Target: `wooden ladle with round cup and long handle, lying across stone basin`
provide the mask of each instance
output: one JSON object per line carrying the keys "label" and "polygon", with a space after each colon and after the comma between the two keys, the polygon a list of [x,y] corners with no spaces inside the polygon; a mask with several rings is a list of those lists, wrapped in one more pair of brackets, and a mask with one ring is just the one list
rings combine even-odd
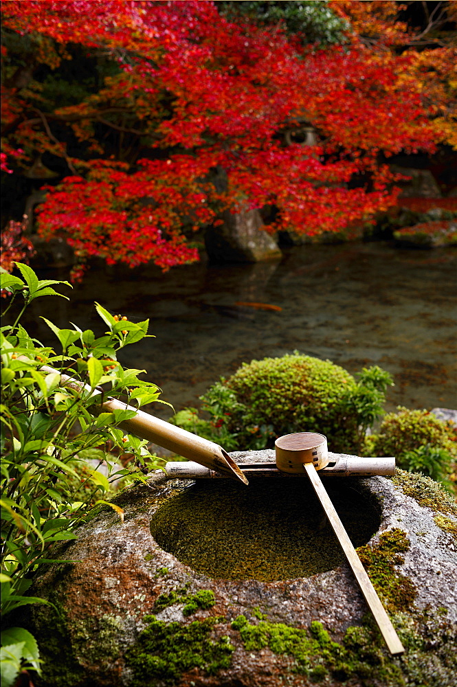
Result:
{"label": "wooden ladle with round cup and long handle, lying across stone basin", "polygon": [[[324,508],[333,532],[337,536],[339,545],[346,556],[361,593],[365,597],[390,653],[394,656],[404,653],[403,644],[401,644],[399,636],[386,613],[386,609],[384,609],[375,587],[373,587],[368,574],[366,574],[366,570],[361,564],[359,556],[357,556],[357,551],[353,547],[353,543],[350,541],[348,533],[344,529],[343,523],[339,519],[339,515],[317,473],[317,470],[320,469],[318,458],[322,457],[322,466],[326,465],[326,458],[328,458],[328,455],[326,456],[326,438],[322,434],[300,432],[280,437],[276,440],[275,444],[278,467],[281,464],[286,464],[289,472],[299,471],[300,461],[302,461],[301,471],[304,469],[309,477],[309,481],[317,498],[320,500],[322,508]],[[316,444],[315,447],[313,447],[313,444]],[[293,469],[291,469],[291,465],[293,465]]]}

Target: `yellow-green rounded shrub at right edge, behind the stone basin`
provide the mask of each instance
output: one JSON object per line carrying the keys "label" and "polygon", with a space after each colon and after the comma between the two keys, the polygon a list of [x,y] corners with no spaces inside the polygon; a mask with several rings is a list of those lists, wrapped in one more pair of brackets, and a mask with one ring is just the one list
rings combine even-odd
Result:
{"label": "yellow-green rounded shrub at right edge, behind the stone basin", "polygon": [[383,418],[379,433],[370,438],[377,455],[394,455],[397,466],[447,482],[457,457],[456,430],[427,410],[399,406]]}

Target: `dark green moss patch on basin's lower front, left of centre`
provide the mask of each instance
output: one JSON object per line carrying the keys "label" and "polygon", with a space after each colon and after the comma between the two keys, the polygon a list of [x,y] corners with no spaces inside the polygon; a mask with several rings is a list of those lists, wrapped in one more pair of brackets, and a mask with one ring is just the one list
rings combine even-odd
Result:
{"label": "dark green moss patch on basin's lower front, left of centre", "polygon": [[205,618],[183,625],[145,616],[148,627],[126,653],[126,665],[133,671],[131,686],[155,687],[157,679],[162,684],[173,684],[192,668],[200,668],[208,675],[228,668],[234,646],[227,636],[211,636],[221,620]]}

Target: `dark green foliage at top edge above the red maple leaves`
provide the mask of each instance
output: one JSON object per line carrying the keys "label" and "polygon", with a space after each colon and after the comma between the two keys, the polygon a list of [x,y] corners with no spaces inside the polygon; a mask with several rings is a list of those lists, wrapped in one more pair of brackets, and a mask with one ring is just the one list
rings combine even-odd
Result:
{"label": "dark green foliage at top edge above the red maple leaves", "polygon": [[216,3],[231,19],[247,17],[256,23],[283,23],[289,34],[299,34],[302,43],[319,47],[344,43],[348,23],[334,14],[326,0],[223,1]]}

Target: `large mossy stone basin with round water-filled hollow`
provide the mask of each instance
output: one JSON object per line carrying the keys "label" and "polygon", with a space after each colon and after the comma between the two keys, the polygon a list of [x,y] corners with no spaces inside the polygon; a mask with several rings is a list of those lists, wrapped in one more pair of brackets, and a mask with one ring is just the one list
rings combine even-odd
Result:
{"label": "large mossy stone basin with round water-filled hollow", "polygon": [[157,471],[115,497],[124,524],[100,506],[54,550],[71,562],[34,583],[54,604],[27,611],[45,659],[37,685],[455,687],[456,505],[402,471],[326,488],[402,657],[384,646],[306,477],[246,488]]}

